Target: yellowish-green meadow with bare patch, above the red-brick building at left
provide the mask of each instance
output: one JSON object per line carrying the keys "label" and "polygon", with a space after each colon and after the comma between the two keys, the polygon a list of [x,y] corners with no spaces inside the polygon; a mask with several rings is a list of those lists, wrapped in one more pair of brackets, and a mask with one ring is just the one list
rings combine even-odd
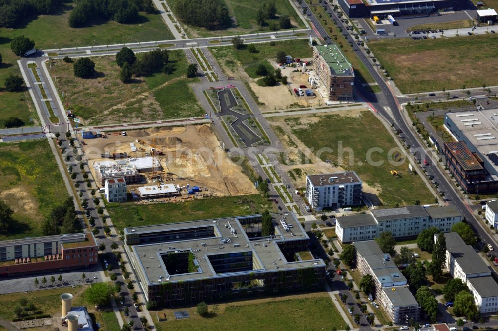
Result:
{"label": "yellowish-green meadow with bare patch, above the red-brick building at left", "polygon": [[0,197],[14,210],[14,232],[0,240],[41,236],[51,208],[68,196],[46,140],[0,144]]}

